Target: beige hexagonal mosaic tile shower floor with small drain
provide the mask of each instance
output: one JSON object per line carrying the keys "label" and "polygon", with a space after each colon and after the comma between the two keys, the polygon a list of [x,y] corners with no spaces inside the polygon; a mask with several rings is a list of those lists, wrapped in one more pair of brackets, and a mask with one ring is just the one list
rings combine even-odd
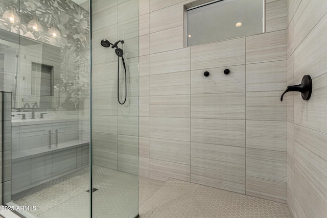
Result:
{"label": "beige hexagonal mosaic tile shower floor with small drain", "polygon": [[[128,210],[124,207],[131,205],[136,207],[135,201],[139,201],[139,214],[142,218],[291,217],[286,204],[176,179],[161,182],[139,177],[137,199],[136,176],[100,166],[96,166],[94,172],[94,186],[99,189],[94,192],[93,197],[96,218],[128,217],[129,214],[124,213]],[[88,173],[83,173],[50,187],[36,189],[35,193],[29,190],[30,195],[14,202],[18,205],[36,205],[38,210],[34,211],[33,215],[40,218],[87,218],[89,217],[89,194],[85,191],[87,189]]]}

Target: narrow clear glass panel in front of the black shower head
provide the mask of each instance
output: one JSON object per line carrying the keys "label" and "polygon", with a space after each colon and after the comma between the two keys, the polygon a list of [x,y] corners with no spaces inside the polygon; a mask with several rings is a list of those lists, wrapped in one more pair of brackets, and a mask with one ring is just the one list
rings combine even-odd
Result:
{"label": "narrow clear glass panel in front of the black shower head", "polygon": [[[106,5],[92,0],[92,17],[92,217],[134,218],[138,215],[138,0]],[[101,40],[107,40],[103,46]],[[118,49],[123,57],[118,57]]]}

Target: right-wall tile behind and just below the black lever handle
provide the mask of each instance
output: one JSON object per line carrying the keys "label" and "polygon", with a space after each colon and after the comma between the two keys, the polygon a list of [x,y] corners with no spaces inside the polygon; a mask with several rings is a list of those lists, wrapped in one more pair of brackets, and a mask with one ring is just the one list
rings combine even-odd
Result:
{"label": "right-wall tile behind and just below the black lever handle", "polygon": [[294,124],[327,133],[327,74],[312,80],[313,89],[309,101],[301,94],[294,94]]}

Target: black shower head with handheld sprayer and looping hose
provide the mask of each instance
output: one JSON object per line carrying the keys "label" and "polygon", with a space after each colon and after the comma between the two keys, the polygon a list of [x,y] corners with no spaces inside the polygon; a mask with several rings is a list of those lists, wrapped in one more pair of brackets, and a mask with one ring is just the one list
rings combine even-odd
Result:
{"label": "black shower head with handheld sprayer and looping hose", "polygon": [[[118,98],[118,102],[119,102],[119,104],[123,105],[123,104],[125,104],[125,102],[126,102],[126,98],[127,98],[127,74],[126,74],[126,65],[125,65],[125,60],[124,60],[124,57],[123,57],[123,55],[124,55],[124,51],[118,47],[118,43],[120,43],[120,42],[121,42],[122,44],[124,44],[124,40],[119,40],[119,41],[116,41],[115,43],[112,44],[112,43],[109,42],[107,39],[102,39],[102,40],[101,40],[101,45],[104,46],[104,47],[110,47],[110,45],[112,45],[112,46],[111,46],[112,49],[116,48],[116,49],[114,50],[114,52],[115,52],[116,55],[118,56],[118,87],[117,87],[117,98]],[[119,99],[119,57],[122,58],[123,66],[124,66],[124,69],[125,69],[125,100],[124,100],[123,103],[121,103],[121,101],[120,101],[120,99]]]}

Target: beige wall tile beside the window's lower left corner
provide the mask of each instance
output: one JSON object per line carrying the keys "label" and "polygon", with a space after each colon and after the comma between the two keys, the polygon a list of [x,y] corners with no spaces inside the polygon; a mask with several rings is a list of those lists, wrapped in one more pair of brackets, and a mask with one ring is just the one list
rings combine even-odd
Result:
{"label": "beige wall tile beside the window's lower left corner", "polygon": [[150,54],[183,48],[183,26],[150,34]]}

